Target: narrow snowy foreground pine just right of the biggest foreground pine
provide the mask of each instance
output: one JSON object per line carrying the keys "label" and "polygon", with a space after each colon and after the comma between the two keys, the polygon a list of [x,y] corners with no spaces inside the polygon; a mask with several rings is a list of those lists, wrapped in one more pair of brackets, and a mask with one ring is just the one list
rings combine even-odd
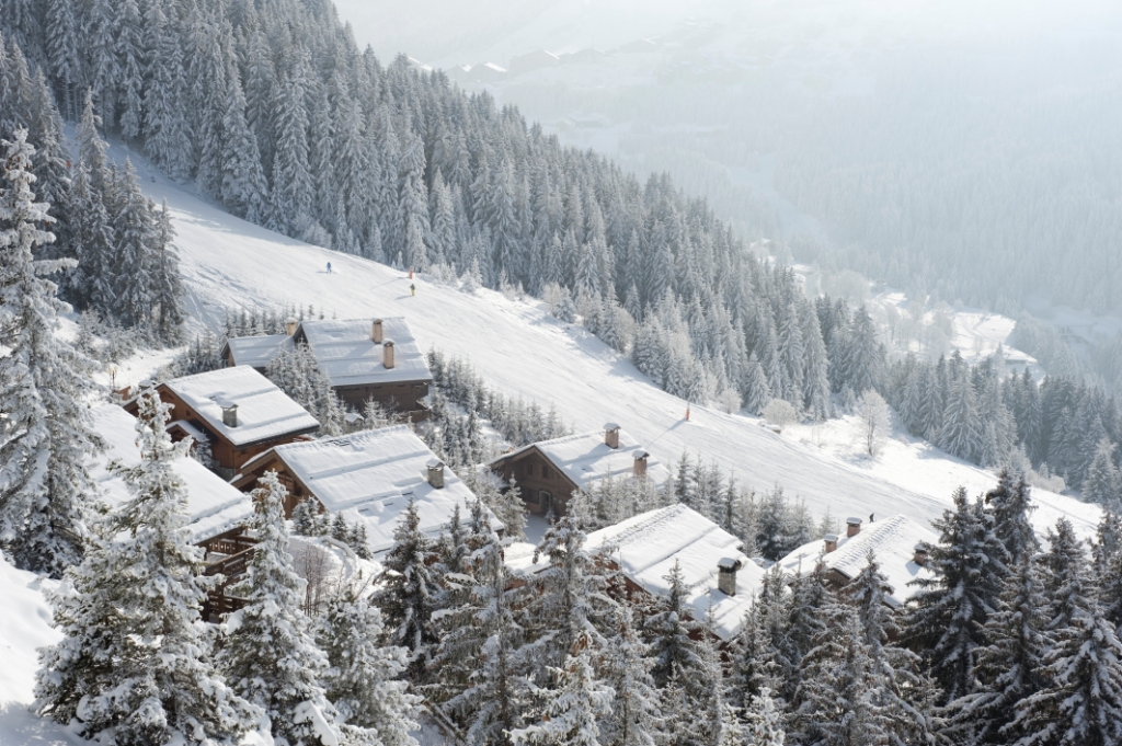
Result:
{"label": "narrow snowy foreground pine just right of the biggest foreground pine", "polygon": [[265,710],[274,738],[293,746],[338,744],[338,712],[321,683],[328,658],[301,611],[306,581],[288,553],[286,490],[275,471],[258,485],[250,526],[257,544],[246,578],[232,588],[246,606],[227,619],[219,666],[233,691]]}

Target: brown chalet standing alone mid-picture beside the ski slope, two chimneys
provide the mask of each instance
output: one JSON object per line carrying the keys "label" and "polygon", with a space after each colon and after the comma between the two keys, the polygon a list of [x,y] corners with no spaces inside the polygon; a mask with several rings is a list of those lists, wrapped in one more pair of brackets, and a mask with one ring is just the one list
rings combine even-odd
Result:
{"label": "brown chalet standing alone mid-picture beside the ski slope, two chimneys", "polygon": [[670,471],[638,441],[608,423],[601,431],[531,443],[489,464],[502,479],[513,479],[526,509],[535,515],[563,514],[576,490],[589,491],[608,478],[650,479],[662,486]]}

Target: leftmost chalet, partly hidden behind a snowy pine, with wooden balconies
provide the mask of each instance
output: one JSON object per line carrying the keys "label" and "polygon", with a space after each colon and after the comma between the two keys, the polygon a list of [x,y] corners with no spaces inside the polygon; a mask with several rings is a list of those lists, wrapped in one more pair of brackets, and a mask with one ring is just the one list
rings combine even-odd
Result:
{"label": "leftmost chalet, partly hidden behind a snowy pine, with wooden balconies", "polygon": [[[125,481],[109,470],[109,464],[117,461],[127,467],[139,466],[137,421],[111,404],[94,408],[92,414],[94,430],[108,448],[91,463],[90,472],[113,509],[131,499],[131,494]],[[245,573],[257,543],[245,528],[254,515],[254,504],[249,495],[234,489],[192,458],[175,462],[173,470],[187,495],[187,528],[192,541],[205,552],[204,573],[223,578],[221,586],[208,596],[203,610],[204,619],[218,621],[220,615],[241,607],[241,600],[229,596],[227,589]]]}

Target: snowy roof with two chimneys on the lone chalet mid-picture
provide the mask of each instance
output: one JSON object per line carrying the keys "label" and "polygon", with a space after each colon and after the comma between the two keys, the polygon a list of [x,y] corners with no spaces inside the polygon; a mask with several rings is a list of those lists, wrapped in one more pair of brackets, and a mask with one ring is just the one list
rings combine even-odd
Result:
{"label": "snowy roof with two chimneys on the lone chalet mid-picture", "polygon": [[[615,423],[608,424],[611,427],[606,425],[605,430],[618,427]],[[531,443],[511,453],[504,453],[491,463],[516,458],[535,448],[557,467],[558,471],[564,473],[577,487],[586,491],[601,479],[633,475],[635,459],[644,454],[647,455],[647,479],[655,485],[662,485],[670,479],[670,470],[666,469],[665,464],[650,455],[640,442],[628,435],[625,430],[619,430],[619,448],[609,448],[604,442],[604,430],[595,430],[589,433]]]}

